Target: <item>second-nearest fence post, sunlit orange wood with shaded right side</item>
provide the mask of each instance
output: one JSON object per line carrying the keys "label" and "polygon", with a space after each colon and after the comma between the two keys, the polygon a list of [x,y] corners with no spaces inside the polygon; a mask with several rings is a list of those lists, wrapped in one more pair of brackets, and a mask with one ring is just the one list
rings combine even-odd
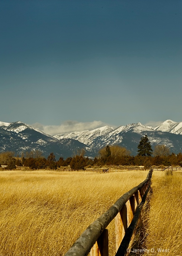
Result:
{"label": "second-nearest fence post, sunlit orange wood with shaded right side", "polygon": [[116,217],[114,218],[115,221],[115,234],[116,234],[116,252],[120,246],[120,243],[125,235],[127,230],[127,206],[126,204],[123,205],[122,209]]}

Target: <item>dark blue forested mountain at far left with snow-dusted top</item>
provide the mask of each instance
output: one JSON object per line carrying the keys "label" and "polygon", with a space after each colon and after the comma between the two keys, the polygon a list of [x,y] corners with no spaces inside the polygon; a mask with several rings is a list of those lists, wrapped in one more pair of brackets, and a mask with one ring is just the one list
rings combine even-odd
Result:
{"label": "dark blue forested mountain at far left with snow-dusted top", "polygon": [[95,155],[94,150],[78,140],[58,140],[20,121],[6,123],[7,125],[1,122],[1,124],[0,152],[13,151],[16,155],[21,155],[25,151],[40,150],[45,157],[54,152],[56,158],[59,159],[59,157],[73,156],[77,150],[84,148],[86,156]]}

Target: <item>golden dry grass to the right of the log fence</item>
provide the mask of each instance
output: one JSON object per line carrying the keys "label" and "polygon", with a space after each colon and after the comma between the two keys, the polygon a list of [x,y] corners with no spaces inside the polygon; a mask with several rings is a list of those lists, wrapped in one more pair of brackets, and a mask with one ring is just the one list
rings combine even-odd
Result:
{"label": "golden dry grass to the right of the log fence", "polygon": [[154,172],[152,175],[150,207],[145,206],[142,212],[147,234],[143,248],[149,251],[137,255],[182,255],[182,173],[165,174]]}

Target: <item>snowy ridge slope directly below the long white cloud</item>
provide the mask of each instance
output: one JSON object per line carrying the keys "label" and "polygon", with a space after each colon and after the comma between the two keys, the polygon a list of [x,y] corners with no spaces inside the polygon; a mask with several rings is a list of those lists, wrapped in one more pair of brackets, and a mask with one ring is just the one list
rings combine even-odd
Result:
{"label": "snowy ridge slope directly below the long white cloud", "polygon": [[74,139],[89,146],[95,138],[97,138],[98,136],[106,135],[113,130],[114,130],[113,127],[103,126],[91,131],[87,130],[83,132],[70,132],[70,133],[64,133],[64,134],[56,134],[53,137],[55,137],[58,140]]}

